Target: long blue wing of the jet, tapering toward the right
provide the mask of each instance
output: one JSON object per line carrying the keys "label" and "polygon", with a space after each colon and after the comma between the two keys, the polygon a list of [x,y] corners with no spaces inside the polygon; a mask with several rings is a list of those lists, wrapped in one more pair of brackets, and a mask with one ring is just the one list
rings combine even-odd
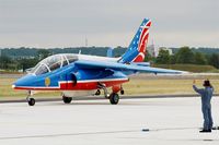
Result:
{"label": "long blue wing of the jet, tapering toward the right", "polygon": [[146,73],[175,73],[175,74],[186,73],[184,71],[177,71],[177,70],[142,67],[142,65],[136,65],[136,64],[124,64],[124,63],[118,63],[118,62],[78,60],[74,62],[74,64],[81,69],[112,69],[112,70],[118,70],[118,71],[136,71],[136,72],[146,72]]}

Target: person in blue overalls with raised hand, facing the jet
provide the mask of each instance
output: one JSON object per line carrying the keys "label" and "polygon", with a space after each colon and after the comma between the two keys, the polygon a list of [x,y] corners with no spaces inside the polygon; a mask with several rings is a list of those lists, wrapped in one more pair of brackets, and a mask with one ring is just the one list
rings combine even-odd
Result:
{"label": "person in blue overalls with raised hand, facing the jet", "polygon": [[212,129],[212,117],[211,117],[211,105],[210,100],[212,97],[214,88],[210,85],[210,81],[206,80],[204,81],[203,86],[205,88],[197,88],[196,87],[196,81],[193,81],[193,88],[195,92],[197,92],[201,96],[201,111],[204,117],[204,128],[200,133],[205,132],[211,132]]}

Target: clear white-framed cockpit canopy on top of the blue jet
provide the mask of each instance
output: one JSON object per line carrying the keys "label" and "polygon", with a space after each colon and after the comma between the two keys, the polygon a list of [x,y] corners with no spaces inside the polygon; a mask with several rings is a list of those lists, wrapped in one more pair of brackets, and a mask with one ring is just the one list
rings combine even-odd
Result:
{"label": "clear white-framed cockpit canopy on top of the blue jet", "polygon": [[36,75],[44,74],[68,65],[77,60],[77,55],[54,55],[38,62],[38,64],[36,64],[36,67],[31,71],[31,73]]}

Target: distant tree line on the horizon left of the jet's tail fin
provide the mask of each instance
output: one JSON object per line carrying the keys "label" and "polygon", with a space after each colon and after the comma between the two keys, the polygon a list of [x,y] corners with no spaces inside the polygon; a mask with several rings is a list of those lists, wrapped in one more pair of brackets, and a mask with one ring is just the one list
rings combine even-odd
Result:
{"label": "distant tree line on the horizon left of the jet's tail fin", "polygon": [[[79,47],[79,48],[50,48],[50,49],[36,49],[36,48],[4,48],[1,49],[0,56],[0,71],[25,71],[33,68],[44,58],[56,53],[81,53],[106,56],[108,47]],[[114,49],[114,56],[118,57],[126,51],[126,48],[117,47]]]}

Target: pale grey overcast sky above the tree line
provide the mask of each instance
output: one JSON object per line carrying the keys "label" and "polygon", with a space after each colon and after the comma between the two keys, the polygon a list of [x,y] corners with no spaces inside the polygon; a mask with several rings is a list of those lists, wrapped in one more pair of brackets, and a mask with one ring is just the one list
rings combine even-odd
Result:
{"label": "pale grey overcast sky above the tree line", "polygon": [[127,47],[143,17],[149,44],[219,47],[219,0],[0,0],[0,47]]}

